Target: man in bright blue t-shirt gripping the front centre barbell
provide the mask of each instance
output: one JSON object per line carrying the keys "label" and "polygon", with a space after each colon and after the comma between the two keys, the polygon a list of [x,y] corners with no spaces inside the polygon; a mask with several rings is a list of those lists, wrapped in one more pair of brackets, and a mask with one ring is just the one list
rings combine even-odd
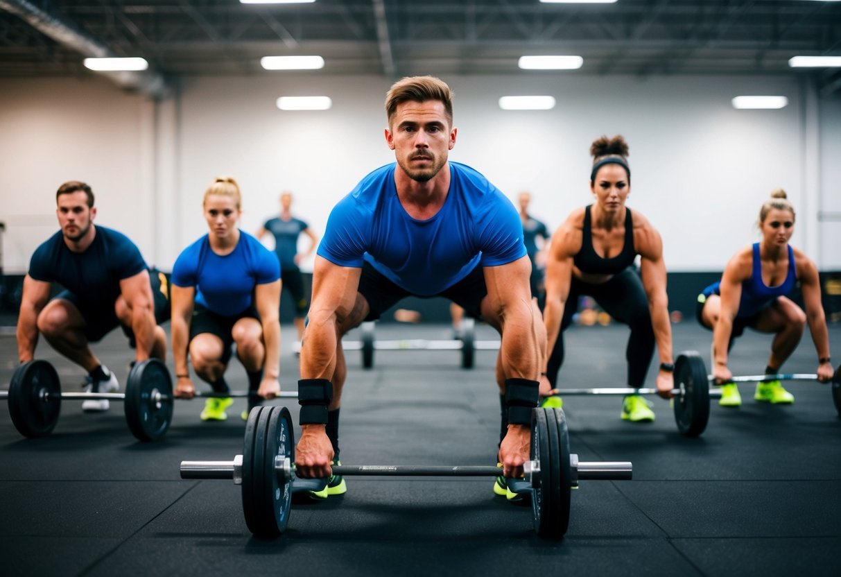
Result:
{"label": "man in bright blue t-shirt gripping the front centre barbell", "polygon": [[[397,162],[368,174],[341,199],[315,258],[313,298],[301,348],[297,473],[329,478],[315,496],[344,493],[331,476],[346,376],[341,336],[410,294],[441,295],[502,335],[497,381],[505,397],[495,493],[529,458],[545,332],[529,291],[531,264],[516,209],[479,172],[447,161],[456,144],[452,93],[434,77],[404,78],[386,99],[385,140]],[[446,403],[442,399],[442,403]],[[446,460],[446,459],[442,459]]]}

